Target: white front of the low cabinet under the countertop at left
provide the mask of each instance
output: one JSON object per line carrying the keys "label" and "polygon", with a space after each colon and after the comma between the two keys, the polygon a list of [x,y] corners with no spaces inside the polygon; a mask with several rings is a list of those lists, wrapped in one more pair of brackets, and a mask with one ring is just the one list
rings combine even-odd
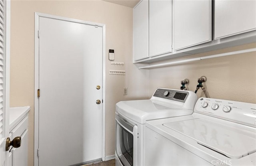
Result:
{"label": "white front of the low cabinet under the countertop at left", "polygon": [[19,148],[10,147],[8,166],[28,166],[28,115],[10,131],[10,139],[21,137]]}

